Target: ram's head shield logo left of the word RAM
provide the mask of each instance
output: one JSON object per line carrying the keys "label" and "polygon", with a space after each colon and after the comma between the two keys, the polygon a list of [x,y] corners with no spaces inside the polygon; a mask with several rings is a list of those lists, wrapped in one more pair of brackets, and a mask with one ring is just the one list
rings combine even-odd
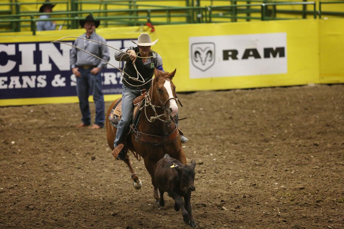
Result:
{"label": "ram's head shield logo left of the word RAM", "polygon": [[191,45],[192,65],[201,71],[206,71],[215,63],[214,43],[194,43]]}

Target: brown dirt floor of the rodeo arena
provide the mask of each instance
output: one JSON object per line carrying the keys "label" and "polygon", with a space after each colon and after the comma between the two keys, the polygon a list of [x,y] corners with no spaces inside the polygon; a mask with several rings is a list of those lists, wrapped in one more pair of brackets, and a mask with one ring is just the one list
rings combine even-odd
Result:
{"label": "brown dirt floor of the rodeo arena", "polygon": [[[179,98],[198,228],[344,228],[344,85]],[[106,129],[79,118],[78,104],[0,108],[1,229],[190,228],[172,198],[155,206],[142,161],[135,190]]]}

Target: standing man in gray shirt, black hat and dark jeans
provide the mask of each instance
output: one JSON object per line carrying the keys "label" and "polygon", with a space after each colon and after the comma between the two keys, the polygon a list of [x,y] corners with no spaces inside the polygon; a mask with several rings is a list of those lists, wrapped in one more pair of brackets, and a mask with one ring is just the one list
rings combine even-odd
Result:
{"label": "standing man in gray shirt, black hat and dark jeans", "polygon": [[[79,24],[86,30],[86,33],[80,37],[106,44],[106,40],[95,32],[100,21],[94,20],[92,15],[88,15],[85,20],[80,20]],[[105,45],[77,38],[74,42],[74,46],[84,49],[105,61],[109,61],[110,59],[109,48]],[[76,77],[76,91],[82,114],[82,123],[77,125],[77,127],[85,127],[91,124],[91,114],[88,104],[89,89],[91,89],[96,106],[96,117],[95,124],[89,128],[102,128],[105,121],[105,105],[104,95],[101,91],[101,69],[105,68],[106,62],[73,47],[71,49],[70,64],[73,74]]]}

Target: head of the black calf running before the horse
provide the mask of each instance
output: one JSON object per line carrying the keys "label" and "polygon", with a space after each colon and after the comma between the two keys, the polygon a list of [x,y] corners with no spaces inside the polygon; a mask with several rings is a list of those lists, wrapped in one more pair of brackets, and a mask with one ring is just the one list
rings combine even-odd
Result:
{"label": "head of the black calf running before the horse", "polygon": [[191,161],[191,165],[184,165],[184,166],[177,166],[175,169],[178,171],[178,175],[180,178],[180,186],[181,189],[185,192],[188,191],[195,191],[195,167],[196,162],[194,159]]}

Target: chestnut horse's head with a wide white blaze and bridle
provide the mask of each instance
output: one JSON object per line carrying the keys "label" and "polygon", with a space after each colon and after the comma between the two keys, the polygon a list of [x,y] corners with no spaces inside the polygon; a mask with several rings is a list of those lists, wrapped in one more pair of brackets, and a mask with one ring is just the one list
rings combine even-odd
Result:
{"label": "chestnut horse's head with a wide white blaze and bridle", "polygon": [[152,98],[157,98],[160,105],[172,117],[178,112],[177,99],[175,96],[175,85],[172,82],[176,69],[173,72],[163,72],[154,68],[155,79],[152,82]]}

